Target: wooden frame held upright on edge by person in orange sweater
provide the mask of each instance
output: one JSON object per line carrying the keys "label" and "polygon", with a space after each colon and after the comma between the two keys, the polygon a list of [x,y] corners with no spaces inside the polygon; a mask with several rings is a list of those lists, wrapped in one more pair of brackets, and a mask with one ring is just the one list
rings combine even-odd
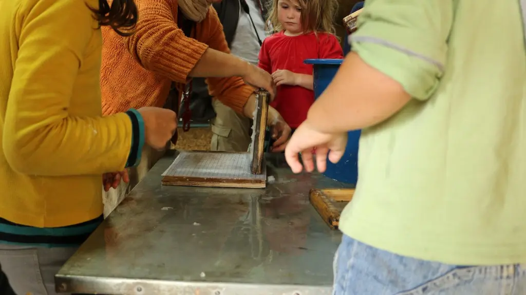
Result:
{"label": "wooden frame held upright on edge by person in orange sweater", "polygon": [[267,115],[268,115],[268,101],[270,93],[266,90],[259,89],[256,93],[256,115],[254,116],[254,128],[252,136],[254,141],[251,143],[252,148],[252,162],[250,170],[254,174],[261,174],[264,167],[263,156],[265,154],[265,131],[267,130]]}

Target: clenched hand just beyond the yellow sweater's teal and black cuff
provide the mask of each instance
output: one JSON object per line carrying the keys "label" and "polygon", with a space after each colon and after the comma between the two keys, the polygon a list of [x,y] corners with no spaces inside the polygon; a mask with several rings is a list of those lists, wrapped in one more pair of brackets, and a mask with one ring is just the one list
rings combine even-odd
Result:
{"label": "clenched hand just beyond the yellow sweater's teal and black cuff", "polygon": [[168,109],[145,107],[137,110],[144,121],[145,143],[163,150],[177,131],[177,114]]}

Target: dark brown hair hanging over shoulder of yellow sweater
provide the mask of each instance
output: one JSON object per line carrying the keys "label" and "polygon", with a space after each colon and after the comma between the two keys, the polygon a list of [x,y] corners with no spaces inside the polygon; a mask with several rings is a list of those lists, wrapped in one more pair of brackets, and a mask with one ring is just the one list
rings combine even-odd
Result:
{"label": "dark brown hair hanging over shoulder of yellow sweater", "polygon": [[134,33],[138,15],[134,0],[113,0],[111,5],[108,0],[99,0],[99,8],[90,9],[99,27],[110,26],[120,36]]}

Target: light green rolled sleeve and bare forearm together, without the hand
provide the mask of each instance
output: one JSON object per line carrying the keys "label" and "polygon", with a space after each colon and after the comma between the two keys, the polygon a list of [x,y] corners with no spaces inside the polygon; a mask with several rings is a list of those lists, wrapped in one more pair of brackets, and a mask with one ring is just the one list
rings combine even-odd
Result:
{"label": "light green rolled sleeve and bare forearm together, without the hand", "polygon": [[386,120],[411,97],[427,100],[443,74],[452,12],[451,1],[369,0],[353,52],[307,120],[320,132],[345,132]]}

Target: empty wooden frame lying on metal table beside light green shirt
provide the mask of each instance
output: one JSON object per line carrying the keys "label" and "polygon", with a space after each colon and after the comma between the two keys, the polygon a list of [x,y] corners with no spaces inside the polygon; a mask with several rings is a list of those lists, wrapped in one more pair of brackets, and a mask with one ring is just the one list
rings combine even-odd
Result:
{"label": "empty wooden frame lying on metal table beside light green shirt", "polygon": [[354,188],[315,188],[310,190],[309,200],[323,221],[331,229],[338,229],[341,210],[351,201],[354,194]]}

